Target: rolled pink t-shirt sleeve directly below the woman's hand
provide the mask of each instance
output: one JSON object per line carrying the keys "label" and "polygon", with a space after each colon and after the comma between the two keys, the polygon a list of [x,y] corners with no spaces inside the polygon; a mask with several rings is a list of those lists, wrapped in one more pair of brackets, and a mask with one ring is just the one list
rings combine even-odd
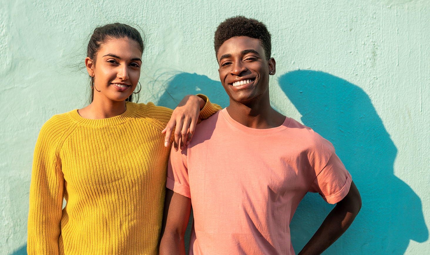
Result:
{"label": "rolled pink t-shirt sleeve directly below the woman's hand", "polygon": [[172,146],[167,166],[166,187],[178,194],[191,198],[187,167],[187,149],[175,152]]}

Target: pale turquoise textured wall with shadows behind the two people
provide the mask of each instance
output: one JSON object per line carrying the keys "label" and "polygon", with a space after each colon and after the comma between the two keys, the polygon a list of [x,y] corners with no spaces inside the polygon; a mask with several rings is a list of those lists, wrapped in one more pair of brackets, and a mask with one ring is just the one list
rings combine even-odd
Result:
{"label": "pale turquoise textured wall with shadows behind the two people", "polygon": [[[203,92],[227,106],[213,51],[233,15],[272,34],[273,106],[329,139],[363,207],[324,254],[428,254],[430,3],[418,0],[0,0],[0,254],[26,254],[37,134],[52,115],[86,105],[88,35],[102,24],[147,37],[140,102],[174,107]],[[291,229],[296,252],[330,211],[308,194]]]}

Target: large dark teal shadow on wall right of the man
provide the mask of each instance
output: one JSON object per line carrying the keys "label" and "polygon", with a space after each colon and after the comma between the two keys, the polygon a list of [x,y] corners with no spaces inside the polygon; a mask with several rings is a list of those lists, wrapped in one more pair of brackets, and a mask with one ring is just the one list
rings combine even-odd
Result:
{"label": "large dark teal shadow on wall right of the man", "polygon": [[[421,200],[394,175],[397,149],[369,96],[356,85],[317,71],[292,71],[278,82],[303,124],[333,143],[362,197],[353,225],[324,254],[404,254],[409,240],[427,240]],[[317,194],[304,197],[291,222],[296,252],[332,207]]]}

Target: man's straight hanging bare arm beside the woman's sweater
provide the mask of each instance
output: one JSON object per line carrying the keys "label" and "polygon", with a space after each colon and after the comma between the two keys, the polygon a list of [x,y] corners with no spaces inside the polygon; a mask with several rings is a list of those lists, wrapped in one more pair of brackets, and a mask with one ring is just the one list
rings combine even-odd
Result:
{"label": "man's straight hanging bare arm beside the woman's sweater", "polygon": [[191,213],[191,199],[166,189],[160,255],[185,255],[184,235]]}

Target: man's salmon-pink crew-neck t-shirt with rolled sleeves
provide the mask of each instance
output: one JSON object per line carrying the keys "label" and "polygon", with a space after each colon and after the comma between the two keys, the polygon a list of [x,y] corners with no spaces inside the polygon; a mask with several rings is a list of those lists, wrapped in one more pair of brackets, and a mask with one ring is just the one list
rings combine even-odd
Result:
{"label": "man's salmon-pink crew-neck t-shirt with rolled sleeves", "polygon": [[294,255],[289,224],[300,200],[310,191],[337,203],[350,184],[311,128],[286,118],[254,129],[223,109],[197,125],[186,150],[172,150],[166,186],[191,198],[191,255]]}

